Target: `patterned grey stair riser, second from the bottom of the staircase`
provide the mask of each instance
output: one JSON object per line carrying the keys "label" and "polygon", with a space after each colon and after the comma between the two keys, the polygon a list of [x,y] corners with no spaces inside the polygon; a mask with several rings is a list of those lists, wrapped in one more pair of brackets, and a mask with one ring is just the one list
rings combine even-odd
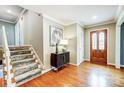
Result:
{"label": "patterned grey stair riser, second from the bottom of the staircase", "polygon": [[34,70],[34,69],[37,69],[37,68],[38,68],[38,65],[36,64],[33,67],[28,67],[28,68],[23,68],[23,69],[20,69],[20,70],[16,70],[16,71],[14,71],[14,76],[24,74],[28,71],[31,71],[31,70]]}

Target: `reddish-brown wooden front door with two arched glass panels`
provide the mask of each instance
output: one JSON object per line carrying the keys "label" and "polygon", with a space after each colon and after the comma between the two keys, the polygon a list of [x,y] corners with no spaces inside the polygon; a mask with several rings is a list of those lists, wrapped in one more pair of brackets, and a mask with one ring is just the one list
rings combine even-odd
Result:
{"label": "reddish-brown wooden front door with two arched glass panels", "polygon": [[90,32],[90,61],[107,64],[107,29]]}

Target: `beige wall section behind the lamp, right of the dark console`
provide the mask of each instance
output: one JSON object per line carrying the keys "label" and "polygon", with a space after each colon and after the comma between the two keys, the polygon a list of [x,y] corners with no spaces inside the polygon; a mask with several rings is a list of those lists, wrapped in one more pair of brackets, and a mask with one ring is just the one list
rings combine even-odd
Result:
{"label": "beige wall section behind the lamp, right of the dark console", "polygon": [[76,24],[66,26],[64,28],[64,38],[69,41],[68,51],[70,51],[70,63],[77,64],[77,32]]}

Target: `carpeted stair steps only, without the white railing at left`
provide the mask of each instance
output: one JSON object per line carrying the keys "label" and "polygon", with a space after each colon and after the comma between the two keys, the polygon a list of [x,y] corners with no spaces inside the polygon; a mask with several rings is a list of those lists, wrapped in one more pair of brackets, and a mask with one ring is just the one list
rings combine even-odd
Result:
{"label": "carpeted stair steps only, without the white railing at left", "polygon": [[42,64],[32,46],[9,47],[16,86],[41,75]]}

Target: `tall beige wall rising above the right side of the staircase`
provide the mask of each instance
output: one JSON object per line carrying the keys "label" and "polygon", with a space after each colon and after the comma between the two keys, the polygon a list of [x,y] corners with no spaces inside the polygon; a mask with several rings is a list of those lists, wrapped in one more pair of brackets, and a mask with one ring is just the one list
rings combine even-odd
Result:
{"label": "tall beige wall rising above the right side of the staircase", "polygon": [[32,45],[43,61],[43,17],[32,11],[23,15],[24,45]]}

